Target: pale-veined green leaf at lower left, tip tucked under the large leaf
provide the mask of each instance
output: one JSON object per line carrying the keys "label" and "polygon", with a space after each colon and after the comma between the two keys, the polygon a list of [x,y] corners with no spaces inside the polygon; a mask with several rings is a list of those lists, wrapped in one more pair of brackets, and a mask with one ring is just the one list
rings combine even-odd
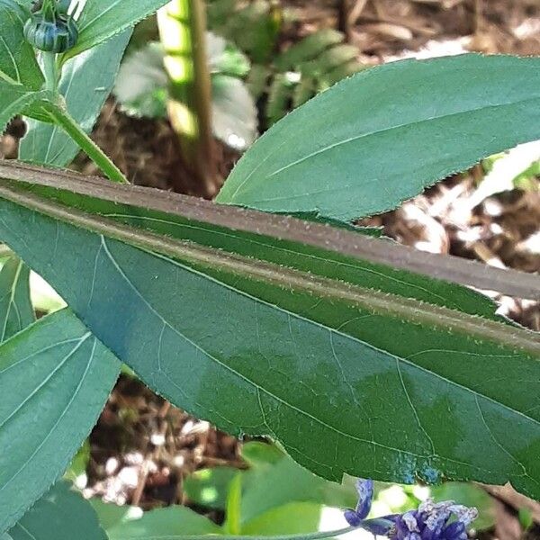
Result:
{"label": "pale-veined green leaf at lower left, tip tucked under the large leaf", "polygon": [[70,311],[0,346],[0,531],[58,479],[94,426],[120,364]]}

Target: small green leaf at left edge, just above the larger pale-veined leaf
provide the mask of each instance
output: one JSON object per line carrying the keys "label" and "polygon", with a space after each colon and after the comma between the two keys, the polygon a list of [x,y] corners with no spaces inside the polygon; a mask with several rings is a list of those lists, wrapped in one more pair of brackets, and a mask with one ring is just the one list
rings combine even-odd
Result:
{"label": "small green leaf at left edge, just above the larger pale-veined leaf", "polygon": [[0,343],[35,320],[30,300],[30,270],[12,257],[0,270]]}

